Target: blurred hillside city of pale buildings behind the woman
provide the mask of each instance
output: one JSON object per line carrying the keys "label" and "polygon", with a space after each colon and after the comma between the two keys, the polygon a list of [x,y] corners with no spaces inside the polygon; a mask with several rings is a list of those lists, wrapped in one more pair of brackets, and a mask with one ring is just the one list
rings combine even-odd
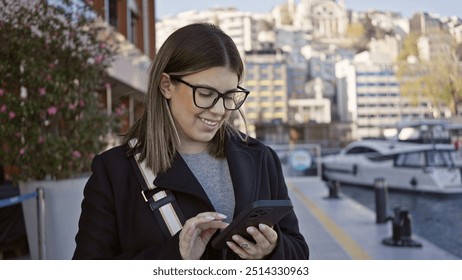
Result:
{"label": "blurred hillside city of pale buildings behind the woman", "polygon": [[336,147],[393,133],[398,122],[460,115],[459,17],[289,0],[266,14],[230,7],[158,19],[156,47],[194,22],[220,26],[237,44],[249,132],[264,141]]}

